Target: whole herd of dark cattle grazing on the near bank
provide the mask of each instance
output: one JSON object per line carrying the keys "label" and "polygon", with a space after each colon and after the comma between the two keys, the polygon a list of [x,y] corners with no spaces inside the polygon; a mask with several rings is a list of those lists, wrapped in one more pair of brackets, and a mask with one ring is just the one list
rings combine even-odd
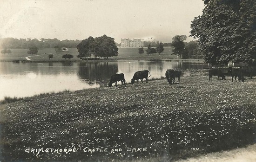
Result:
{"label": "whole herd of dark cattle grazing on the near bank", "polygon": [[[146,83],[148,83],[148,73],[149,73],[149,77],[150,72],[148,70],[143,70],[143,71],[136,71],[132,80],[131,80],[131,84],[135,83],[135,80],[137,80],[137,83],[139,83],[139,80],[142,80],[145,78],[146,79]],[[165,77],[167,78],[167,82],[169,84],[174,84],[175,83],[175,78],[178,78],[178,82],[180,82],[180,77],[182,75],[182,71],[175,71],[172,69],[167,69],[167,71],[165,72]],[[222,80],[226,80],[226,76],[231,76],[232,77],[232,82],[233,82],[233,78],[238,78],[238,81],[242,81],[244,82],[244,76],[249,77],[250,79],[252,79],[253,76],[256,76],[256,67],[253,66],[245,66],[245,67],[241,67],[241,68],[212,68],[209,69],[209,80],[212,80],[212,76],[218,76],[218,79],[220,79],[220,77],[222,78]],[[108,83],[108,87],[112,87],[112,84],[115,83],[115,86],[117,86],[117,82],[121,81],[121,86],[124,84],[125,85],[125,78],[124,78],[124,74],[115,74],[112,75],[110,78],[110,81]]]}

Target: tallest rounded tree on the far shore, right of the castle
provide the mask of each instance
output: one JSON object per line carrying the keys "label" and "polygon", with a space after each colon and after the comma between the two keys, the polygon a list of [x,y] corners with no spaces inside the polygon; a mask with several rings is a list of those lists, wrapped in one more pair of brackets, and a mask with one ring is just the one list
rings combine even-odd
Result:
{"label": "tallest rounded tree on the far shore, right of the castle", "polygon": [[174,54],[177,54],[177,56],[179,56],[180,58],[182,56],[182,53],[184,52],[184,48],[185,48],[184,41],[186,39],[187,39],[186,35],[175,35],[172,38],[171,46],[174,47],[172,52],[174,52]]}

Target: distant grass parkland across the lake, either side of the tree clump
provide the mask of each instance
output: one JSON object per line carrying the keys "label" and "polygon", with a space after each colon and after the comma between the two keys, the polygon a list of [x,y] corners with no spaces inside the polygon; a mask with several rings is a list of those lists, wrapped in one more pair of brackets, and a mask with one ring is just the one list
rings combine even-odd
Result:
{"label": "distant grass parkland across the lake, either side of the tree clump", "polygon": [[[158,55],[158,53],[147,55],[145,51],[146,49],[147,48],[144,48],[144,53],[140,55],[138,53],[138,48],[119,48],[118,56],[111,57],[109,59],[177,59],[176,55],[171,55],[171,47],[165,47],[165,51],[160,55]],[[49,61],[48,53],[53,53],[54,58],[51,58],[53,61],[65,60],[62,58],[64,54],[72,54],[74,58],[71,58],[71,60],[73,61],[81,61],[81,59],[77,58],[77,49],[69,49],[67,52],[55,52],[53,48],[46,48],[40,49],[38,53],[33,56],[31,54],[27,54],[28,49],[11,49],[11,51],[11,54],[0,54],[0,61],[26,60],[26,57],[28,56],[31,56],[29,58],[34,61]]]}

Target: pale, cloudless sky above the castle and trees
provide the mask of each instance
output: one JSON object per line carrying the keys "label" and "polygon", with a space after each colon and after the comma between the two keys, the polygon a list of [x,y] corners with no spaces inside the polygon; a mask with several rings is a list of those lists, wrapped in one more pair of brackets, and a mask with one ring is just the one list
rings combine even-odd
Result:
{"label": "pale, cloudless sky above the castle and trees", "polygon": [[191,41],[191,21],[203,8],[202,0],[0,0],[0,38]]}

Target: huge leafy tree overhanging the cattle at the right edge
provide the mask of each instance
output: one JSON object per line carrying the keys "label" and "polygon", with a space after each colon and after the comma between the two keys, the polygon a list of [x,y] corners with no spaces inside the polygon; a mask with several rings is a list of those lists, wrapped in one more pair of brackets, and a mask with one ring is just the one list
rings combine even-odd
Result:
{"label": "huge leafy tree overhanging the cattle at the right edge", "polygon": [[191,24],[200,52],[212,65],[256,59],[256,0],[203,0]]}

